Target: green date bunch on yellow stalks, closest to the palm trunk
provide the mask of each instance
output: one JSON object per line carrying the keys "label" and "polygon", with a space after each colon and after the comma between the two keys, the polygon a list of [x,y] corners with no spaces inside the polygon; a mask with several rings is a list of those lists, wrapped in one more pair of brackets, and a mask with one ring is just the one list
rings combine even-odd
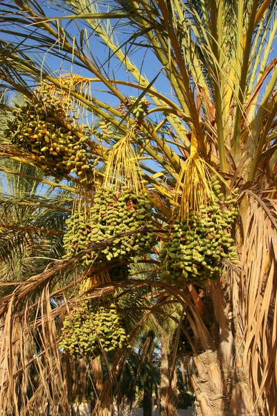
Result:
{"label": "green date bunch on yellow stalks, closest to the palm trunk", "polygon": [[224,181],[211,176],[211,167],[197,153],[186,161],[181,175],[181,202],[160,252],[161,279],[178,287],[219,277],[224,259],[238,262],[231,237],[238,190],[222,202]]}

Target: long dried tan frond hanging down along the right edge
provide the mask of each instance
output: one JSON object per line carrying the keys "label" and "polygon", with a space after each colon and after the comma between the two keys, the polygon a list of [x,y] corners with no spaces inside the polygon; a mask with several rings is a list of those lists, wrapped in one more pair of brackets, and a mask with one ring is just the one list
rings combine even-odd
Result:
{"label": "long dried tan frond hanging down along the right edge", "polygon": [[243,366],[254,405],[259,414],[271,416],[276,414],[277,392],[277,207],[248,194],[240,281],[233,286],[234,312],[241,317],[238,338],[244,345]]}

